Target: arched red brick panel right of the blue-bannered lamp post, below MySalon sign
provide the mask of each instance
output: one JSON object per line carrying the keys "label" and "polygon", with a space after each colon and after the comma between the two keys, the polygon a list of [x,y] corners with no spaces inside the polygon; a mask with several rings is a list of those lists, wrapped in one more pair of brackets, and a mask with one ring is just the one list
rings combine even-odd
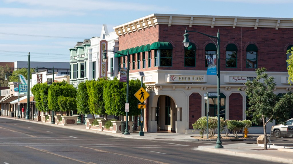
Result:
{"label": "arched red brick panel right of the blue-bannered lamp post, below MySalon sign", "polygon": [[239,93],[232,93],[229,96],[229,120],[242,120],[243,97]]}

